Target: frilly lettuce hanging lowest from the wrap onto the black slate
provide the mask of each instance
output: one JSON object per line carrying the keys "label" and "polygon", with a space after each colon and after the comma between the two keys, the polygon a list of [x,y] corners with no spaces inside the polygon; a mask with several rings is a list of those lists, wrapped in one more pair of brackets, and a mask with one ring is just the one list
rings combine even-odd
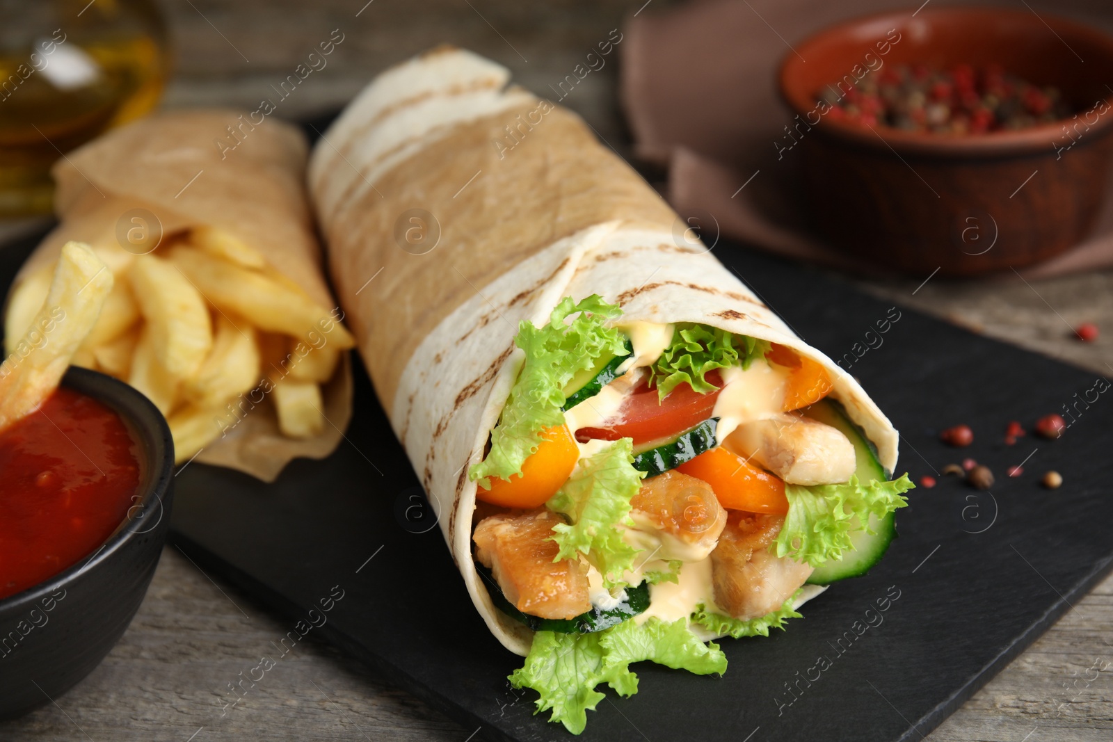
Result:
{"label": "frilly lettuce hanging lowest from the wrap onto the black slate", "polygon": [[727,670],[719,647],[699,641],[687,620],[649,619],[640,625],[624,621],[592,634],[539,631],[525,664],[510,675],[510,682],[540,694],[535,713],[551,710],[550,721],[580,734],[588,723],[587,712],[605,698],[595,686],[607,683],[620,695],[633,695],[638,676],[629,665],[643,660],[699,675],[721,675]]}

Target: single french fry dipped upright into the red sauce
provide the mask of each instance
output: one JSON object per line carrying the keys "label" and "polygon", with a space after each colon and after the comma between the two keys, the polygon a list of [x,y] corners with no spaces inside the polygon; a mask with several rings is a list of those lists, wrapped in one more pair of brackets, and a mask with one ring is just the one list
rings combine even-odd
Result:
{"label": "single french fry dipped upright into the red sauce", "polygon": [[112,271],[82,243],[66,243],[46,301],[0,365],[0,429],[37,409],[92,329]]}

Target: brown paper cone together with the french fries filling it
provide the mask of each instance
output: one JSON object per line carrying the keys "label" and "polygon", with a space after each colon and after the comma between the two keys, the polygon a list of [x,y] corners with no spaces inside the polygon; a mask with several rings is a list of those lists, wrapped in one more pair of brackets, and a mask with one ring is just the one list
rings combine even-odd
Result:
{"label": "brown paper cone together with the french fries filling it", "polygon": [[62,245],[88,243],[112,291],[73,363],[128,382],[167,416],[178,463],[273,481],[322,458],[352,415],[352,375],[322,267],[294,127],[247,113],[164,113],[55,167],[60,224],[20,269],[18,340]]}

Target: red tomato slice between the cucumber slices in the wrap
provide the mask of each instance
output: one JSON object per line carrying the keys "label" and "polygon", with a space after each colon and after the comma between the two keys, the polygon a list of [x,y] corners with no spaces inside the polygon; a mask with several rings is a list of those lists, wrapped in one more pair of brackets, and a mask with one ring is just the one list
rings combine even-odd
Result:
{"label": "red tomato slice between the cucumber slices in the wrap", "polygon": [[688,384],[681,384],[664,399],[658,398],[657,388],[650,388],[647,379],[634,387],[619,407],[618,414],[604,425],[581,427],[575,432],[575,437],[580,443],[633,438],[637,447],[641,443],[679,435],[706,421],[715,409],[715,402],[722,388],[722,375],[712,370],[705,378],[719,388],[700,394]]}

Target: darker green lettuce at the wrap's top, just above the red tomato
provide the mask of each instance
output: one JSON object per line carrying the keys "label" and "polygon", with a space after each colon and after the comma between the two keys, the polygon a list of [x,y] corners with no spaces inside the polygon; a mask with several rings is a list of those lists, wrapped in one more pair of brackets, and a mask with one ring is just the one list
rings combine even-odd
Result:
{"label": "darker green lettuce at the wrap's top, just above the red tomato", "polygon": [[672,343],[653,364],[650,384],[657,385],[661,399],[680,384],[689,384],[700,394],[716,389],[705,376],[716,368],[749,368],[755,358],[769,352],[768,340],[733,335],[706,325],[677,325]]}

